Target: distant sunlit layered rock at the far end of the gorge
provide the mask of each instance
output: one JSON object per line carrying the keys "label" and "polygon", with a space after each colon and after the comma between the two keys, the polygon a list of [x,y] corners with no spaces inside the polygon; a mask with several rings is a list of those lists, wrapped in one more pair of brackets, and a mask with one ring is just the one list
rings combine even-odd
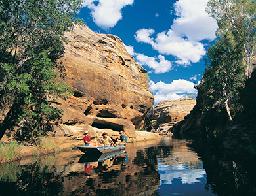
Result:
{"label": "distant sunlit layered rock at the far end of the gorge", "polygon": [[193,99],[161,101],[154,107],[148,131],[167,132],[177,122],[184,120],[194,105],[196,100]]}

